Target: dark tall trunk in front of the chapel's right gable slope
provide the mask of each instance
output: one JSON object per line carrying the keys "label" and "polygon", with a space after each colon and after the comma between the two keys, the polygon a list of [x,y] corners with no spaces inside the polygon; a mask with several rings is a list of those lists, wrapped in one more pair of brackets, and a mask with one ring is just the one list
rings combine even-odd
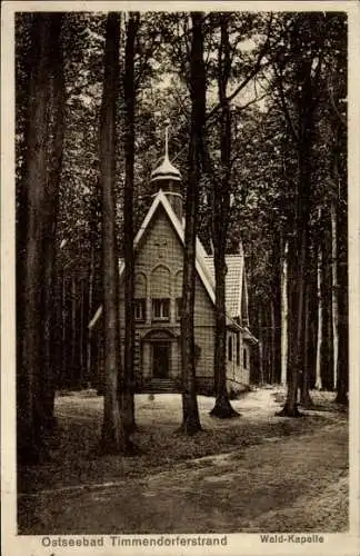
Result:
{"label": "dark tall trunk in front of the chapel's right gable slope", "polygon": [[200,155],[206,112],[206,76],[203,67],[202,13],[192,12],[192,39],[190,58],[191,128],[189,146],[189,177],[186,200],[186,230],[183,256],[181,360],[182,360],[182,425],[186,434],[201,430],[194,358],[194,291],[196,291],[196,239],[201,177]]}

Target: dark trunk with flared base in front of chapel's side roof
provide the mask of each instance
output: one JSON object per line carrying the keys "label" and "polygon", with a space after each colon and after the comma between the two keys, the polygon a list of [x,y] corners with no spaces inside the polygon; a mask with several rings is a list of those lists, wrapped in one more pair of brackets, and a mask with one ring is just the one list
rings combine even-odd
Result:
{"label": "dark trunk with flared base in front of chapel's side roof", "polygon": [[226,251],[228,221],[230,211],[230,173],[231,173],[231,113],[227,101],[227,83],[229,80],[230,42],[228,14],[221,14],[218,91],[220,112],[220,152],[221,180],[213,181],[212,202],[212,241],[216,277],[216,337],[214,337],[214,388],[216,404],[210,415],[229,418],[239,415],[231,406],[227,389],[227,307],[226,307]]}

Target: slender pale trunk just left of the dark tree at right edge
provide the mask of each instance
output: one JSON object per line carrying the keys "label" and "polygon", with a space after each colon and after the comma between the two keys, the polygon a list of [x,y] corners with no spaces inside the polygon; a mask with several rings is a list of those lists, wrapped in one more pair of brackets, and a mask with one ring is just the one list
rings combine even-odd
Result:
{"label": "slender pale trunk just left of the dark tree at right edge", "polygon": [[337,209],[331,202],[331,317],[332,317],[332,348],[333,348],[333,388],[338,384],[338,356],[339,356],[339,308],[338,308],[338,238],[337,238]]}

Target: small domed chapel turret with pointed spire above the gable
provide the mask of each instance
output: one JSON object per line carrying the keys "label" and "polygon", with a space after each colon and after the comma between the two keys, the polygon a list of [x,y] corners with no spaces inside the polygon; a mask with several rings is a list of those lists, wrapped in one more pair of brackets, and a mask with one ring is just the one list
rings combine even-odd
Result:
{"label": "small domed chapel turret with pointed spire above the gable", "polygon": [[166,128],[166,152],[161,165],[151,172],[151,183],[154,191],[162,189],[169,202],[181,221],[182,219],[182,195],[181,173],[169,159],[169,126]]}

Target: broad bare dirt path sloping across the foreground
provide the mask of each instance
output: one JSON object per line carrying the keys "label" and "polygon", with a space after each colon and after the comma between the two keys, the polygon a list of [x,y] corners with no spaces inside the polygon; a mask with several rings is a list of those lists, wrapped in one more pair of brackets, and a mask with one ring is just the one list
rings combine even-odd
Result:
{"label": "broad bare dirt path sloping across the foreground", "polygon": [[347,425],[331,423],[311,434],[181,463],[171,471],[24,496],[22,528],[32,534],[347,530]]}

